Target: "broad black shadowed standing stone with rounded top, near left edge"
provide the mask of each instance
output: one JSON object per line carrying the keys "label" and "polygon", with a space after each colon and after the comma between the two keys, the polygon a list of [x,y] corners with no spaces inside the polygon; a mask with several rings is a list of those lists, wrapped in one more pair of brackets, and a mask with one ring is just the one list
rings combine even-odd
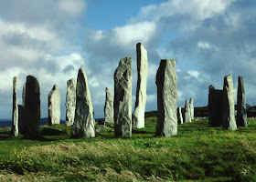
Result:
{"label": "broad black shadowed standing stone with rounded top, near left edge", "polygon": [[22,116],[22,131],[27,139],[38,139],[40,135],[40,86],[37,78],[27,76],[25,107]]}

